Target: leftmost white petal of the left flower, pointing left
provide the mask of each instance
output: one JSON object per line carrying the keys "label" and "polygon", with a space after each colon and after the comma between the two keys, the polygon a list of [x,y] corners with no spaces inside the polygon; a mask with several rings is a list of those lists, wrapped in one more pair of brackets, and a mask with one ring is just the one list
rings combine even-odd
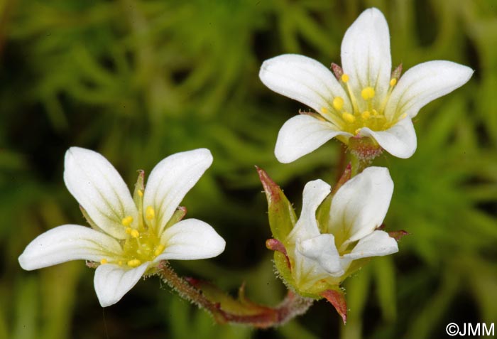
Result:
{"label": "leftmost white petal of the left flower, pointing left", "polygon": [[114,238],[80,225],[62,225],[38,235],[24,249],[19,264],[26,270],[84,259],[99,262],[121,252]]}

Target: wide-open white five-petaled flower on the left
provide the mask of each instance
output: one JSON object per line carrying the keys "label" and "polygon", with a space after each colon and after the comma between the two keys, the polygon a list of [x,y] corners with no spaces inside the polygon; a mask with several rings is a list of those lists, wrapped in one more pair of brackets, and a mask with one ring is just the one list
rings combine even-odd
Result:
{"label": "wide-open white five-petaled flower on the left", "polygon": [[153,168],[146,190],[141,173],[132,198],[106,158],[70,148],[64,181],[93,229],[55,227],[28,244],[19,264],[32,270],[77,259],[96,262],[95,291],[106,307],[119,301],[160,260],[216,257],[225,242],[211,226],[196,219],[174,223],[185,212],[175,215],[181,200],[211,163],[207,149],[168,156]]}

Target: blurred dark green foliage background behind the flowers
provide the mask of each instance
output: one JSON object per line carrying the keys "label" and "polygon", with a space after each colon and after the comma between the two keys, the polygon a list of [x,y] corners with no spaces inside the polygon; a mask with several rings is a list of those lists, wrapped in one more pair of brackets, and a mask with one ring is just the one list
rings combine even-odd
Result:
{"label": "blurred dark green foliage background behind the flowers", "polygon": [[[226,291],[246,281],[275,305],[264,168],[300,212],[307,181],[337,176],[338,141],[295,163],[273,156],[278,129],[305,109],[258,80],[263,60],[301,53],[339,63],[346,28],[376,6],[393,65],[469,65],[468,84],[423,108],[412,158],[382,156],[395,191],[386,225],[400,252],[346,281],[349,323],[331,305],[280,328],[215,325],[157,277],[102,309],[84,262],[23,271],[35,236],[84,225],[62,181],[70,146],[101,152],[132,187],[177,151],[214,164],[182,205],[226,239],[220,257],[173,262]],[[493,0],[1,0],[0,338],[446,338],[447,323],[497,323],[497,4]]]}

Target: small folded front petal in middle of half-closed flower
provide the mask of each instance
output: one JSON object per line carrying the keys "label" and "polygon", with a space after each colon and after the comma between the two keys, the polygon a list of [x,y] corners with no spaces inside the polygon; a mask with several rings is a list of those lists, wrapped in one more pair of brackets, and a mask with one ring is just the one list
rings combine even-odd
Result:
{"label": "small folded front petal in middle of half-closed flower", "polygon": [[297,243],[297,250],[303,256],[319,264],[329,275],[341,276],[344,274],[333,235],[318,235],[299,242]]}

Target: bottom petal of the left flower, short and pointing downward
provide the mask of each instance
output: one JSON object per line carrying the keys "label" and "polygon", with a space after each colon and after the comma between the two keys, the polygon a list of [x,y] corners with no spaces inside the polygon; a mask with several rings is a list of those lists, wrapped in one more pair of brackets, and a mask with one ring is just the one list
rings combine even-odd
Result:
{"label": "bottom petal of the left flower, short and pointing downward", "polygon": [[97,267],[93,283],[100,305],[107,307],[121,300],[138,280],[143,276],[150,262],[135,269],[124,269],[114,264],[103,264]]}

